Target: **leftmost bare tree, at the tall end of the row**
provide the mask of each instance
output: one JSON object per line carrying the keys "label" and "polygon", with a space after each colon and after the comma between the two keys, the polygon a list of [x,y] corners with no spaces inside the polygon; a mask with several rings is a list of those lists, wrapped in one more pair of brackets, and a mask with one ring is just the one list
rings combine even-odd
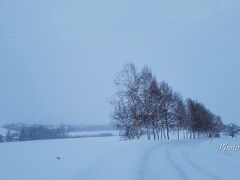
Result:
{"label": "leftmost bare tree, at the tall end of the row", "polygon": [[113,124],[125,137],[139,138],[141,128],[139,77],[134,64],[125,65],[114,82],[117,93],[111,100],[114,107]]}

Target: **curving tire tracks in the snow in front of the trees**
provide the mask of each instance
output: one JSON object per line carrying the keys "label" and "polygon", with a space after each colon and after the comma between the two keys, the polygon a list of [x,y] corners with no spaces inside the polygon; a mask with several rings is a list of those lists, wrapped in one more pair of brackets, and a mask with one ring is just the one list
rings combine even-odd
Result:
{"label": "curving tire tracks in the snow in front of the trees", "polygon": [[[164,155],[166,155],[167,158],[163,158],[160,159],[159,157],[159,161],[164,160],[165,165],[164,167],[160,167],[159,170],[156,170],[156,173],[161,174],[161,170],[164,171],[164,168],[173,168],[176,170],[176,172],[178,173],[178,179],[182,179],[182,180],[190,180],[191,178],[189,177],[188,173],[189,170],[187,170],[187,168],[181,168],[181,164],[186,164],[189,165],[189,167],[193,168],[194,170],[196,170],[196,172],[198,172],[197,174],[199,174],[200,176],[203,176],[203,179],[211,179],[211,180],[222,180],[222,178],[218,177],[216,174],[204,169],[203,167],[201,167],[200,165],[196,164],[195,162],[193,162],[187,155],[186,153],[183,152],[183,150],[181,149],[181,146],[194,146],[196,145],[195,143],[192,144],[188,144],[188,143],[160,143],[157,144],[153,147],[151,147],[149,150],[147,150],[142,158],[142,163],[141,163],[141,168],[139,171],[139,179],[140,180],[147,180],[150,179],[149,177],[151,176],[151,174],[149,173],[155,173],[154,171],[149,172],[149,164],[151,163],[152,160],[154,160],[154,155],[156,154],[162,154],[162,156],[164,157]],[[196,142],[198,143],[198,142]],[[158,151],[158,149],[161,148],[162,151]],[[177,153],[175,153],[174,151],[178,151],[180,152],[180,156],[181,159],[176,159]],[[179,155],[178,155],[179,156]],[[182,161],[182,162],[181,162]],[[169,165],[169,167],[167,167]],[[173,171],[172,171],[173,172]],[[174,173],[174,172],[173,172]],[[157,177],[157,176],[156,176]],[[204,178],[205,177],[205,178]]]}

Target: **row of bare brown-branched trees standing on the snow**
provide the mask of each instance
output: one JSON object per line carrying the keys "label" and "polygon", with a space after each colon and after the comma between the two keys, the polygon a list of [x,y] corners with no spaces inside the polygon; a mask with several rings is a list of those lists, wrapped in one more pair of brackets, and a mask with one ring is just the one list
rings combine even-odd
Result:
{"label": "row of bare brown-branched trees standing on the snow", "polygon": [[117,92],[111,99],[114,126],[127,139],[170,139],[170,132],[183,138],[218,136],[222,128],[220,116],[192,99],[184,101],[164,81],[158,82],[151,69],[137,72],[134,64],[126,64],[115,78]]}

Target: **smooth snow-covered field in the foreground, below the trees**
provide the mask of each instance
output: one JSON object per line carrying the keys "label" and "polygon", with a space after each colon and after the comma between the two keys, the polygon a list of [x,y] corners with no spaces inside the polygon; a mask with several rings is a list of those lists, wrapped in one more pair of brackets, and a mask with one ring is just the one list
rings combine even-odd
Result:
{"label": "smooth snow-covered field in the foreground, below the trees", "polygon": [[2,143],[0,180],[239,180],[240,151],[220,152],[223,143],[240,145],[117,136]]}

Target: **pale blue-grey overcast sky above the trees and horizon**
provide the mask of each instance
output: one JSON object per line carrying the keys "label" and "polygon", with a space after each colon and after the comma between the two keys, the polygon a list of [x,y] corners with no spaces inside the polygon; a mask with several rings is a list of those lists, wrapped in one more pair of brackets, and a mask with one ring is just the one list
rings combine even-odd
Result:
{"label": "pale blue-grey overcast sky above the trees and horizon", "polygon": [[240,123],[239,0],[1,0],[0,124],[110,122],[113,77],[149,65]]}

